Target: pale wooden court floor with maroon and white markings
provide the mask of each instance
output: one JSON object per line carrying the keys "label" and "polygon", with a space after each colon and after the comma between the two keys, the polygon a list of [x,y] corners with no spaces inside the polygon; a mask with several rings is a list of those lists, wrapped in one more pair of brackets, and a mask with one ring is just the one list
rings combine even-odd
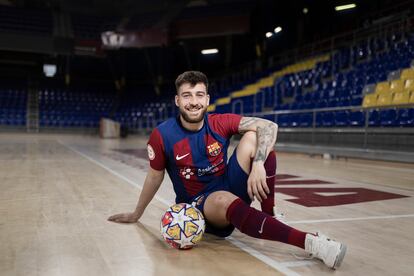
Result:
{"label": "pale wooden court floor with maroon and white markings", "polygon": [[301,230],[343,241],[337,271],[303,251],[235,232],[169,248],[164,180],[138,224],[147,137],[0,134],[0,275],[413,275],[414,164],[278,154],[276,205]]}

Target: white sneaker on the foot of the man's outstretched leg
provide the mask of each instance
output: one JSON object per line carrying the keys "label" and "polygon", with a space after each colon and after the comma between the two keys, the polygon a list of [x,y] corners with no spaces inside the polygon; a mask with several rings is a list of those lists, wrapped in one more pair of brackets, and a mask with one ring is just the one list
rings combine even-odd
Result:
{"label": "white sneaker on the foot of the man's outstretched leg", "polygon": [[346,245],[331,240],[327,236],[317,233],[307,234],[305,238],[305,250],[312,257],[322,260],[328,267],[338,268],[344,259]]}

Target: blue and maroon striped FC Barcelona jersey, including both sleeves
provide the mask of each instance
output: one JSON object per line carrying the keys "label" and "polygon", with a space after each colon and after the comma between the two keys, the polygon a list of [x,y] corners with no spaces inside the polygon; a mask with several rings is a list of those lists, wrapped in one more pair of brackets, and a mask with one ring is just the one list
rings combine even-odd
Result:
{"label": "blue and maroon striped FC Barcelona jersey, including both sleeves", "polygon": [[148,141],[150,166],[167,170],[176,202],[188,202],[225,174],[230,138],[238,133],[241,118],[208,114],[200,130],[189,131],[177,117],[153,130]]}

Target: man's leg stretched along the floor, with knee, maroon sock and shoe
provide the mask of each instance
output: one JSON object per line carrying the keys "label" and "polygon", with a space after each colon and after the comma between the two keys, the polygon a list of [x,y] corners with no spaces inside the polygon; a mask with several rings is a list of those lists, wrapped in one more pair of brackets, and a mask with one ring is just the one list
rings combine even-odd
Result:
{"label": "man's leg stretched along the floor, with knee, maroon sock and shoe", "polygon": [[259,239],[279,241],[305,249],[327,266],[337,268],[344,258],[346,246],[294,229],[264,212],[247,205],[227,191],[213,192],[204,203],[204,215],[215,227],[234,225],[242,233]]}

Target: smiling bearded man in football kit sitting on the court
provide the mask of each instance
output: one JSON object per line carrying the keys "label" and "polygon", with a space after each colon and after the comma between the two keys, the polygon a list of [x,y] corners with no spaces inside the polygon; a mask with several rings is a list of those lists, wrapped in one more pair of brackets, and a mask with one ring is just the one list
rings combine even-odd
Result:
{"label": "smiling bearded man in football kit sitting on the court", "polygon": [[[191,203],[203,212],[207,233],[226,237],[237,228],[251,237],[298,246],[328,267],[339,267],[344,244],[274,218],[277,124],[236,114],[207,114],[208,80],[201,72],[184,72],[175,85],[180,115],[152,131],[147,145],[150,168],[136,209],[108,220],[137,222],[167,170],[176,202]],[[230,138],[237,133],[243,136],[227,162]],[[262,211],[250,207],[255,198]]]}

